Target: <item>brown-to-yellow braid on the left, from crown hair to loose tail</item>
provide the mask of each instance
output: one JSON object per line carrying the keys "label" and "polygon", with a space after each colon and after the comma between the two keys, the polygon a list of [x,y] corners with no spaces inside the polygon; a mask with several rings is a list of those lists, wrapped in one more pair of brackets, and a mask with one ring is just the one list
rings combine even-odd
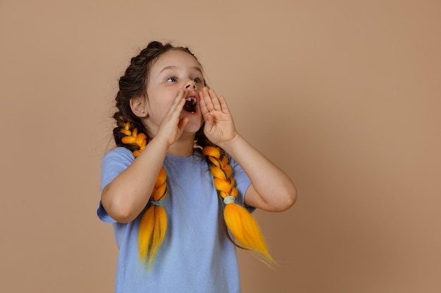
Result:
{"label": "brown-to-yellow braid on the left, from crown hair to loose tail", "polygon": [[[113,138],[116,146],[127,148],[135,157],[144,150],[150,138],[142,119],[132,112],[130,100],[142,96],[147,98],[149,70],[161,54],[171,50],[184,51],[196,58],[187,47],[175,47],[172,44],[151,41],[137,56],[130,59],[130,65],[119,79],[119,90],[115,98],[118,110],[113,115],[113,119],[116,120]],[[139,261],[147,264],[148,259],[149,268],[167,230],[167,215],[161,206],[161,201],[167,195],[166,178],[166,171],[161,168],[151,193],[150,205],[139,223]]]}

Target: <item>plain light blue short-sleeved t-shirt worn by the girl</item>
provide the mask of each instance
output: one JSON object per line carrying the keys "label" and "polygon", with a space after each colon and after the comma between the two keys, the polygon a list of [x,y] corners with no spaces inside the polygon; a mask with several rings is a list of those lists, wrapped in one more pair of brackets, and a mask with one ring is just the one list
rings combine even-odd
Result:
{"label": "plain light blue short-sleeved t-shirt worn by the girl", "polygon": [[[108,152],[101,166],[101,190],[134,159],[126,148]],[[250,181],[236,162],[230,159],[230,164],[238,190],[236,203],[243,204]],[[117,223],[99,204],[99,219],[113,223],[118,245],[115,292],[240,292],[235,245],[225,235],[224,204],[201,151],[195,149],[190,157],[167,155],[163,167],[168,176],[163,200],[168,228],[150,272],[139,262],[142,214],[130,223]]]}

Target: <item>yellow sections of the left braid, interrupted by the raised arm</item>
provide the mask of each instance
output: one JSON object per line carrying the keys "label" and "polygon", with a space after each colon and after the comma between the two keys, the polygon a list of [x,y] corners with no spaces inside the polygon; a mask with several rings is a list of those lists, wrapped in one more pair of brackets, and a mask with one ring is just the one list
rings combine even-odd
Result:
{"label": "yellow sections of the left braid, interrupted by the raised arm", "polygon": [[[137,145],[139,150],[133,151],[133,155],[138,157],[147,145],[147,136],[143,133],[137,133],[137,129],[130,131],[130,122],[124,122],[124,129],[121,133],[125,134],[121,141],[125,144]],[[161,246],[167,231],[166,210],[162,207],[162,200],[167,195],[166,184],[167,173],[161,168],[158,178],[151,192],[150,207],[142,215],[139,223],[138,247],[139,261],[147,264],[149,260],[149,269],[154,261],[156,252]]]}

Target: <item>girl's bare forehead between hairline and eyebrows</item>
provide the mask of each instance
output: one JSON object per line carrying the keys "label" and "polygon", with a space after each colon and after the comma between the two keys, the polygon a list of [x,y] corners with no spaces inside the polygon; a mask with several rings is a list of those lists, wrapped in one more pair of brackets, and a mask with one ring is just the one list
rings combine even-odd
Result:
{"label": "girl's bare forehead between hairline and eyebrows", "polygon": [[167,51],[161,54],[156,62],[151,66],[151,74],[159,74],[164,68],[174,67],[178,69],[199,68],[202,70],[199,62],[189,53],[179,50]]}

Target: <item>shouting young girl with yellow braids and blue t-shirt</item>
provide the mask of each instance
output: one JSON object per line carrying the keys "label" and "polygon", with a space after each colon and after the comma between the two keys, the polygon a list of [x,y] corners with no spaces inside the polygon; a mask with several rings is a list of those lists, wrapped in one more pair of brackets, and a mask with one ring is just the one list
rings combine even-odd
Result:
{"label": "shouting young girl with yellow braids and blue t-shirt", "polygon": [[188,48],[153,41],[120,78],[97,211],[115,230],[115,292],[240,292],[236,246],[273,262],[250,212],[290,208],[294,184],[203,72]]}

